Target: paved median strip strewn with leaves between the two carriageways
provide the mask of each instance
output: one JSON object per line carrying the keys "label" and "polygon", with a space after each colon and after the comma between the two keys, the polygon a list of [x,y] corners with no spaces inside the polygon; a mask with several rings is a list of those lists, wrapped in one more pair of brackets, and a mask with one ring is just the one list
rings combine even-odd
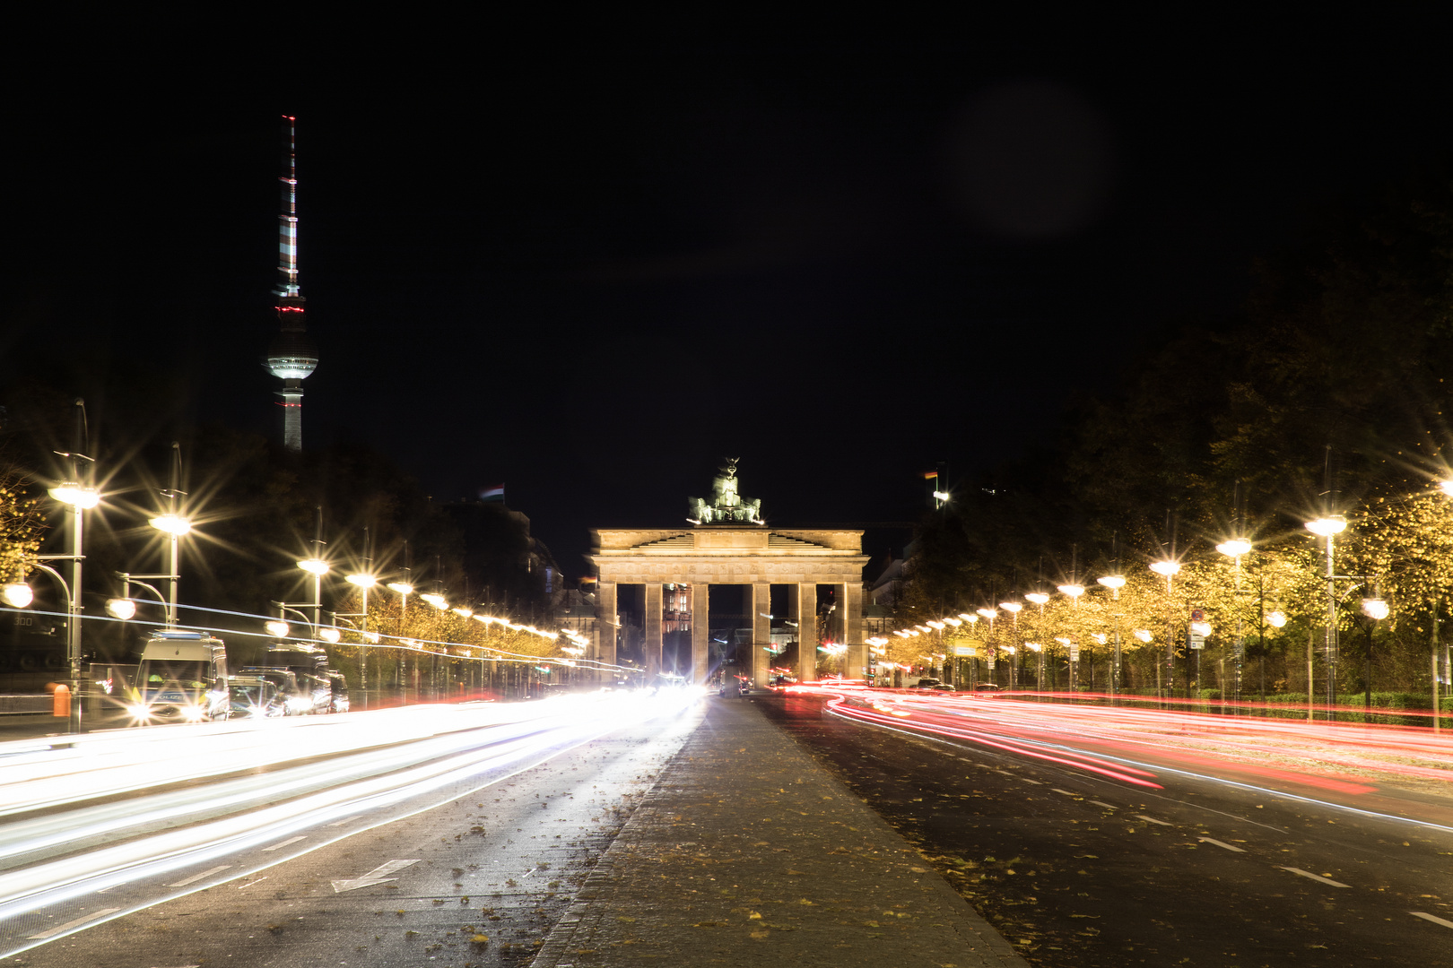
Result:
{"label": "paved median strip strewn with leaves between the two carriageways", "polygon": [[708,702],[535,968],[1027,968],[756,701]]}

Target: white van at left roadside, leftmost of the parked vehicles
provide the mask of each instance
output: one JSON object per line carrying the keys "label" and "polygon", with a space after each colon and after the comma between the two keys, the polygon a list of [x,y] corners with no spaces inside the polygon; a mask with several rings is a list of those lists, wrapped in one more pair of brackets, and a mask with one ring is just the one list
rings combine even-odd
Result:
{"label": "white van at left roadside, leftmost of the parked vehicles", "polygon": [[199,631],[157,631],[141,650],[131,694],[139,726],[227,718],[227,647]]}

